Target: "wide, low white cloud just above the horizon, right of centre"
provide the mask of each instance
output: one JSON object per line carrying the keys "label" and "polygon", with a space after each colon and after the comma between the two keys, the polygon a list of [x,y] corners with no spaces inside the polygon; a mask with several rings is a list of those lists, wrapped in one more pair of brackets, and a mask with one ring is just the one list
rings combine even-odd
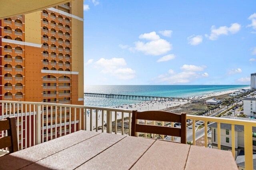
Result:
{"label": "wide, low white cloud just above the horizon, right of centre", "polygon": [[161,74],[153,80],[155,80],[156,83],[166,82],[168,84],[185,84],[192,82],[198,78],[208,77],[209,75],[207,72],[199,72],[203,71],[204,68],[206,68],[206,66],[194,66],[184,64],[180,67],[182,72],[175,73],[174,70],[170,69],[168,70],[168,73]]}

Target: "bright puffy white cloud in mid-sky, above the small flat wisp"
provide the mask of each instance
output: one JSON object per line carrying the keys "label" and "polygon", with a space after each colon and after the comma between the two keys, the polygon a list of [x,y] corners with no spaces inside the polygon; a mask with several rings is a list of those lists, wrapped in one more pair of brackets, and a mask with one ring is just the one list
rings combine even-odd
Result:
{"label": "bright puffy white cloud in mid-sky, above the small flat wisp", "polygon": [[130,47],[130,51],[140,51],[145,55],[163,55],[172,50],[172,44],[165,39],[161,39],[155,31],[144,33],[139,36],[140,39],[147,39],[148,42],[136,41],[135,47]]}

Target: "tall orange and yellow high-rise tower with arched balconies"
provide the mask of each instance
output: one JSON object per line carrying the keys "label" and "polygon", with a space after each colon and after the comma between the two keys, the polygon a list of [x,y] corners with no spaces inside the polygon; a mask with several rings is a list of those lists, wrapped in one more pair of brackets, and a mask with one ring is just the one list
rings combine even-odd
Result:
{"label": "tall orange and yellow high-rise tower with arched balconies", "polygon": [[[83,21],[83,0],[0,20],[0,100],[84,105]],[[46,107],[44,129],[50,125],[46,118],[51,119],[51,109],[53,124],[59,127],[61,111]],[[23,111],[13,108],[0,107],[1,117]],[[33,107],[31,111],[33,120]],[[67,121],[72,121],[69,107],[65,111]]]}

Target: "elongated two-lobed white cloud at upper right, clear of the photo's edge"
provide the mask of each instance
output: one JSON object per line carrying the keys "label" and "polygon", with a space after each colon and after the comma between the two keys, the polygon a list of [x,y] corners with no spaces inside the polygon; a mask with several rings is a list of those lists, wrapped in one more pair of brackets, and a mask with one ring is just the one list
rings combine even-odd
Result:
{"label": "elongated two-lobed white cloud at upper right, clear of the photo's edge", "polygon": [[218,36],[220,35],[228,35],[229,33],[235,34],[241,29],[241,25],[238,23],[232,23],[230,27],[227,26],[221,26],[219,28],[216,28],[215,25],[212,25],[211,27],[211,35],[205,34],[205,37],[210,40],[216,40],[218,39]]}

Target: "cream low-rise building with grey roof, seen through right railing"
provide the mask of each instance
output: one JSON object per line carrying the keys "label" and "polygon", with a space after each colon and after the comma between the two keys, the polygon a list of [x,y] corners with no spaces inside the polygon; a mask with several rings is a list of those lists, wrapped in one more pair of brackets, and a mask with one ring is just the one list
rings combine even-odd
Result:
{"label": "cream low-rise building with grey roof, seen through right railing", "polygon": [[[251,120],[251,119],[246,119]],[[251,120],[254,121],[254,120]],[[212,128],[212,148],[218,149],[218,123],[210,123],[208,127]],[[234,125],[235,127],[235,158],[239,170],[244,170],[244,126]],[[220,123],[220,149],[232,150],[231,124]],[[256,127],[252,127],[252,148],[254,169],[256,169]]]}

